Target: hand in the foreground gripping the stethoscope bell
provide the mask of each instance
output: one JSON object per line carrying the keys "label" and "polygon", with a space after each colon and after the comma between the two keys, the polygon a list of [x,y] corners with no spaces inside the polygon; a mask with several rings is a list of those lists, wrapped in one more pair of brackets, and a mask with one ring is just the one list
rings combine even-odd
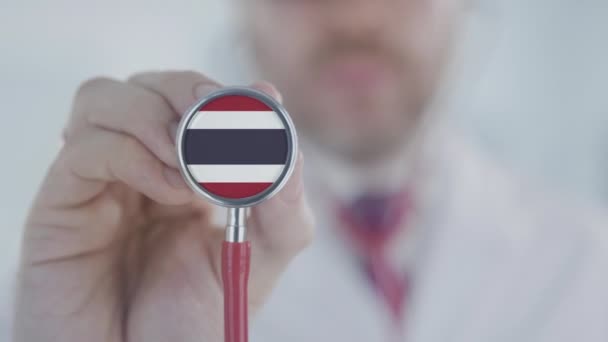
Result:
{"label": "hand in the foreground gripping the stethoscope bell", "polygon": [[[27,219],[15,341],[223,341],[224,233],[183,181],[173,142],[180,115],[218,87],[194,72],[80,87]],[[247,222],[253,313],[312,237],[301,164]]]}

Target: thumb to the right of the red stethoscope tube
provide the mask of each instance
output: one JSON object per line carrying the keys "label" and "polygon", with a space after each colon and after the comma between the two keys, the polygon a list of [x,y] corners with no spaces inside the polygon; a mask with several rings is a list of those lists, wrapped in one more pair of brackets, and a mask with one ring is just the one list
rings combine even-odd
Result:
{"label": "thumb to the right of the red stethoscope tube", "polygon": [[265,297],[289,261],[314,235],[314,220],[304,196],[302,157],[285,187],[251,210],[247,226],[252,246],[252,298]]}

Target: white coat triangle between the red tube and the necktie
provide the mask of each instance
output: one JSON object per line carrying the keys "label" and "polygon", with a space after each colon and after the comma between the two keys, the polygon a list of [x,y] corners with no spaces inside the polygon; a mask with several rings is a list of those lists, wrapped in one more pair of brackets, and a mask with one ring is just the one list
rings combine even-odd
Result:
{"label": "white coat triangle between the red tube and the necktie", "polygon": [[372,291],[324,224],[317,234],[255,319],[252,341],[383,341],[385,321]]}

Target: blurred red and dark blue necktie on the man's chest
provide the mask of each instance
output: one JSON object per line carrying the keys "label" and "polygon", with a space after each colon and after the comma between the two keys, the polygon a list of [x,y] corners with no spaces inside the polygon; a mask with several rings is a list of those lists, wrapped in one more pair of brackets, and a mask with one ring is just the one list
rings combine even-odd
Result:
{"label": "blurred red and dark blue necktie on the man's chest", "polygon": [[391,266],[386,249],[403,226],[410,207],[406,192],[372,193],[339,205],[337,210],[338,226],[353,245],[365,274],[397,326],[403,320],[408,279],[404,270]]}

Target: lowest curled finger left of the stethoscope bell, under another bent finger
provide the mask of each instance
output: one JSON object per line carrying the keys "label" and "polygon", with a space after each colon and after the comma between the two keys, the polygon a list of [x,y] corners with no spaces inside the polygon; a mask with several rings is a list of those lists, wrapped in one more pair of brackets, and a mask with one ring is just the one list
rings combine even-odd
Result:
{"label": "lowest curled finger left of the stethoscope bell, under another bent finger", "polygon": [[51,206],[78,205],[109,182],[122,182],[162,204],[185,204],[192,196],[179,172],[137,139],[98,130],[89,139],[64,147],[43,185],[41,200]]}

